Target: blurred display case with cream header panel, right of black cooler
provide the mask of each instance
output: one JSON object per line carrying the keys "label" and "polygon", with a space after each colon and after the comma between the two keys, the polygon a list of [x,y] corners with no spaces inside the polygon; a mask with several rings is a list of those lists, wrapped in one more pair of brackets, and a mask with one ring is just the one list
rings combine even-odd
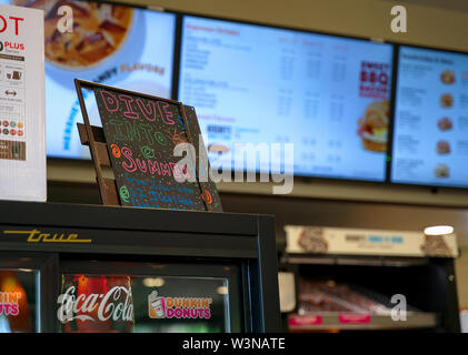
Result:
{"label": "blurred display case with cream header panel, right of black cooler", "polygon": [[286,230],[279,263],[283,331],[460,332],[455,235]]}

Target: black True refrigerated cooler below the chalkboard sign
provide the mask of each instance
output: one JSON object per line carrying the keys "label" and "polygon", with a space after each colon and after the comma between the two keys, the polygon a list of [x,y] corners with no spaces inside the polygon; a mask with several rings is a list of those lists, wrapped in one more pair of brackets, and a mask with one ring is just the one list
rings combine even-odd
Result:
{"label": "black True refrigerated cooler below the chalkboard sign", "polygon": [[0,332],[278,332],[273,217],[0,202]]}

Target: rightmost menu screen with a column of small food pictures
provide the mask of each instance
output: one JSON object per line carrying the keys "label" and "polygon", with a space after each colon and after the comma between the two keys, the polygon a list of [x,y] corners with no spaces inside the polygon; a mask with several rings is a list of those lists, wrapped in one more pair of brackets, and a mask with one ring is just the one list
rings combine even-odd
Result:
{"label": "rightmost menu screen with a column of small food pictures", "polygon": [[401,47],[391,181],[468,186],[468,54]]}

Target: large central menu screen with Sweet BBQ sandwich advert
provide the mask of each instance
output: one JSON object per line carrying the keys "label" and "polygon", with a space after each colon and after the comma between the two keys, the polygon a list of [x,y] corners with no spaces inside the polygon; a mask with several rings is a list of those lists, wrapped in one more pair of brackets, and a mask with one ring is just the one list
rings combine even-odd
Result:
{"label": "large central menu screen with Sweet BBQ sandwich advert", "polygon": [[296,175],[385,180],[391,44],[185,17],[181,45],[213,168],[238,170],[238,143],[292,143]]}

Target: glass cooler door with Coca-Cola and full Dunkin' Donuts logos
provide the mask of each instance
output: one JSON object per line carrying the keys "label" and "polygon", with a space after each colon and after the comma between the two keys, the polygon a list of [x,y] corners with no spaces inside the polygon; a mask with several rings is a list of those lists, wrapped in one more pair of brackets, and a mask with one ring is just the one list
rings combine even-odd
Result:
{"label": "glass cooler door with Coca-Cola and full Dunkin' Donuts logos", "polygon": [[236,265],[73,262],[61,270],[60,332],[242,329]]}

